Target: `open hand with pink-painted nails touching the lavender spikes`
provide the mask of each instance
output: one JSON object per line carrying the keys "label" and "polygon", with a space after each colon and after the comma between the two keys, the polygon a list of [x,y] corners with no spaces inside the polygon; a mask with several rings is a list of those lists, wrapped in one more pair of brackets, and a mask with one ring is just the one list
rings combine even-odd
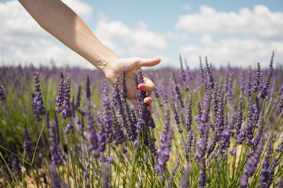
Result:
{"label": "open hand with pink-painted nails touching the lavender spikes", "polygon": [[[111,84],[115,83],[117,74],[122,74],[122,70],[125,70],[125,80],[126,80],[126,93],[127,99],[131,101],[131,103],[138,109],[136,104],[136,84],[134,82],[134,74],[139,75],[139,68],[141,67],[151,67],[160,63],[160,58],[156,59],[143,59],[143,58],[117,58],[113,61],[107,63],[105,68],[105,76],[110,81]],[[138,88],[142,91],[147,92],[147,97],[144,98],[144,103],[146,103],[149,113],[152,114],[154,112],[153,106],[150,104],[154,100],[154,83],[149,79],[148,75],[146,75],[143,71],[142,74],[144,76],[144,83],[139,84]],[[119,87],[121,91],[121,87]]]}

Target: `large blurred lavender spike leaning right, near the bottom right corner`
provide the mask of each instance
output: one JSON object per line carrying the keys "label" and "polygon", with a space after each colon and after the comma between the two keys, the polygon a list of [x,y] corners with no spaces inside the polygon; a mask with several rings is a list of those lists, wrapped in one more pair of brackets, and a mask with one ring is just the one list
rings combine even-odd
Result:
{"label": "large blurred lavender spike leaning right, near the bottom right corner", "polygon": [[256,170],[257,164],[259,163],[260,155],[263,150],[264,140],[261,140],[261,144],[259,146],[259,149],[255,153],[254,157],[249,159],[246,165],[246,168],[244,169],[244,174],[238,181],[238,186],[241,188],[246,188],[247,184],[249,182],[249,177],[251,177],[254,174],[254,171]]}

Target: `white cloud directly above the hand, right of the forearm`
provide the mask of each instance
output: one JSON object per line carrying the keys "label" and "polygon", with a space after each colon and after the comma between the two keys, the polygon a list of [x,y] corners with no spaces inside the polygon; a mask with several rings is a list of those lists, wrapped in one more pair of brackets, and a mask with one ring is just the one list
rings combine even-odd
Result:
{"label": "white cloud directly above the hand, right of the forearm", "polygon": [[[144,22],[137,22],[137,26],[137,29],[132,29],[121,21],[108,21],[105,17],[102,17],[98,21],[93,33],[101,41],[108,40],[110,46],[108,46],[107,43],[105,43],[105,45],[114,51],[114,53],[117,53],[116,50],[121,47],[112,41],[116,39],[122,40],[122,43],[129,45],[129,49],[127,51],[131,54],[127,54],[128,56],[153,56],[168,47],[164,36],[159,33],[149,31]],[[111,45],[113,48],[111,48]],[[125,50],[122,51],[124,52]],[[119,56],[119,53],[117,53],[117,55]]]}

